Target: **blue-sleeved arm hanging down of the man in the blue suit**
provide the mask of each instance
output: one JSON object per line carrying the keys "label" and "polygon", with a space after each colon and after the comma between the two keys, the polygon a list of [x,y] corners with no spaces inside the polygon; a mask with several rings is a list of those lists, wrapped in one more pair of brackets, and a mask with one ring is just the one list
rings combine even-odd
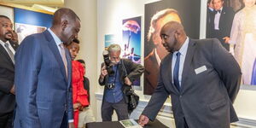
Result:
{"label": "blue-sleeved arm hanging down of the man in the blue suit", "polygon": [[15,94],[21,127],[40,128],[37,107],[42,48],[35,37],[25,38],[15,54]]}

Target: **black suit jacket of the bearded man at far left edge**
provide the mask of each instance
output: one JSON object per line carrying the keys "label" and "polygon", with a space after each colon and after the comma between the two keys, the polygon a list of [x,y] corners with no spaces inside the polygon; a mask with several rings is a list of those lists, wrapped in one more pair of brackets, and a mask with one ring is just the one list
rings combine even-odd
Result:
{"label": "black suit jacket of the bearded man at far left edge", "polygon": [[[14,47],[14,43],[10,42],[10,44],[15,50],[17,49],[18,45]],[[0,116],[15,109],[15,95],[9,92],[14,84],[15,65],[0,44]]]}

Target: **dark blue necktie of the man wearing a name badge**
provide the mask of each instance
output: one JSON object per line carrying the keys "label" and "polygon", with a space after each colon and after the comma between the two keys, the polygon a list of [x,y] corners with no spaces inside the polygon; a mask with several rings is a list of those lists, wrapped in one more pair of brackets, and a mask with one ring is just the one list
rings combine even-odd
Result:
{"label": "dark blue necktie of the man wearing a name badge", "polygon": [[176,62],[175,62],[175,66],[173,69],[173,82],[174,85],[176,86],[177,90],[180,91],[180,86],[179,86],[179,82],[178,82],[178,70],[179,70],[179,59],[180,59],[180,53],[177,52],[177,58],[176,58]]}

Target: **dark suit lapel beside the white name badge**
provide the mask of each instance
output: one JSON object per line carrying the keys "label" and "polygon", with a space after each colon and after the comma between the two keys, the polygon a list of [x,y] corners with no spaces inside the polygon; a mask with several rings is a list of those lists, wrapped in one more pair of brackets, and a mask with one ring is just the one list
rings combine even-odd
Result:
{"label": "dark suit lapel beside the white name badge", "polygon": [[193,56],[195,53],[195,41],[189,39],[189,47],[187,50],[187,54],[186,54],[186,58],[184,61],[184,65],[183,65],[183,75],[182,75],[182,82],[181,82],[181,93],[183,92],[183,90],[186,87],[186,80],[188,79],[189,76],[189,71],[190,71],[190,65],[191,62],[193,61]]}

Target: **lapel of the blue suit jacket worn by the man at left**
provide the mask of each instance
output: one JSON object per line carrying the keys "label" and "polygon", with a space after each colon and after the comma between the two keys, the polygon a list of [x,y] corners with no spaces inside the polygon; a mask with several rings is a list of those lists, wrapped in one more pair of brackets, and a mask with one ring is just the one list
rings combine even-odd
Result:
{"label": "lapel of the blue suit jacket worn by the man at left", "polygon": [[65,80],[67,81],[67,76],[66,76],[66,71],[65,71],[65,66],[61,58],[60,51],[58,49],[58,46],[55,44],[54,38],[50,35],[48,31],[44,32],[45,37],[49,41],[49,49],[52,51],[52,53],[55,55],[56,61],[58,61],[59,65],[61,66],[61,73],[64,76]]}

